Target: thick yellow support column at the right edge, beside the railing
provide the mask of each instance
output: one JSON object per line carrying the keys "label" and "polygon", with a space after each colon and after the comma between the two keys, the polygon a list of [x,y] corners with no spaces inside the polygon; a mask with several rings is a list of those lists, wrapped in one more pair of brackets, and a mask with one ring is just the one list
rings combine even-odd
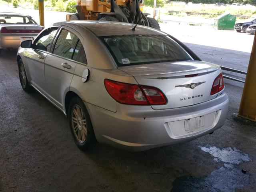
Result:
{"label": "thick yellow support column at the right edge, beside the railing", "polygon": [[256,35],[254,36],[238,116],[256,121]]}

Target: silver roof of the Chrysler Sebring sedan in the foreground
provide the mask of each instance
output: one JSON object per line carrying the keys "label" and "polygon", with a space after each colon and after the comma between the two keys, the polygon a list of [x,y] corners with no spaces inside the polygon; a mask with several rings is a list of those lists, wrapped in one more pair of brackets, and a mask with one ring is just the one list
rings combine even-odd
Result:
{"label": "silver roof of the Chrysler Sebring sedan in the foreground", "polygon": [[155,35],[166,35],[166,33],[138,25],[133,31],[132,28],[135,24],[123,23],[123,22],[109,22],[109,21],[68,21],[58,22],[54,25],[64,25],[74,28],[75,26],[81,26],[87,28],[93,32],[96,36],[112,36],[112,35],[132,35],[132,34],[155,34]]}

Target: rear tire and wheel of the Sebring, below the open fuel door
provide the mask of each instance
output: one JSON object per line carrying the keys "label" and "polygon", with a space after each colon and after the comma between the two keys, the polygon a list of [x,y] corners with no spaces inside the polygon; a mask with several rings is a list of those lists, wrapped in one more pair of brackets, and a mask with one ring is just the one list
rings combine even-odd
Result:
{"label": "rear tire and wheel of the Sebring, below the open fuel door", "polygon": [[72,98],[68,108],[68,120],[74,142],[81,150],[94,150],[99,143],[95,138],[92,121],[84,102],[79,97]]}

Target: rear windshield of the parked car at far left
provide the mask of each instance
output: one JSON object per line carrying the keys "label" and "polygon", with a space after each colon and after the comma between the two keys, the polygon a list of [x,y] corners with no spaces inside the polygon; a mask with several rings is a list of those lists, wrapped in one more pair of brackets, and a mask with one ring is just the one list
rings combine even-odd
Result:
{"label": "rear windshield of the parked car at far left", "polygon": [[37,24],[30,16],[0,15],[0,24]]}

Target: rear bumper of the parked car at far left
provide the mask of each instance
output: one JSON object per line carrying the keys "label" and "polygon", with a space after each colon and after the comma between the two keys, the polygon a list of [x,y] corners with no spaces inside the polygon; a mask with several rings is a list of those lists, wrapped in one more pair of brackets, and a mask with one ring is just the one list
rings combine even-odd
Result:
{"label": "rear bumper of the parked car at far left", "polygon": [[36,38],[37,34],[4,34],[0,33],[0,49],[18,48],[20,46],[21,37]]}

